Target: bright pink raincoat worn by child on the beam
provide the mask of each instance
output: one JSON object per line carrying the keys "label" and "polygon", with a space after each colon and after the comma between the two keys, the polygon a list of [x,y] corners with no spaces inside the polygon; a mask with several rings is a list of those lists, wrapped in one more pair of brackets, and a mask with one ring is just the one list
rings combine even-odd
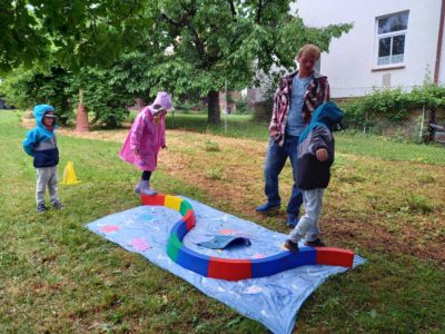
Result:
{"label": "bright pink raincoat worn by child on the beam", "polygon": [[[136,117],[119,157],[140,170],[154,171],[159,149],[166,146],[166,116],[162,115],[159,124],[155,124],[150,107],[145,107]],[[139,149],[139,156],[132,151],[136,148]]]}

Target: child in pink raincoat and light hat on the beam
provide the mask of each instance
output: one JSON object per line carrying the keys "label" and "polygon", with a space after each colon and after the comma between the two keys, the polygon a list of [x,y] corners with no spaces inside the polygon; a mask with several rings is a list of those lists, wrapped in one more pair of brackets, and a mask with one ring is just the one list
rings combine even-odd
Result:
{"label": "child in pink raincoat and light hat on the beam", "polygon": [[152,105],[145,107],[131,126],[130,131],[119,153],[119,157],[142,170],[135,193],[154,196],[150,188],[151,173],[156,169],[158,153],[166,146],[166,114],[171,109],[171,98],[165,91],[159,91]]}

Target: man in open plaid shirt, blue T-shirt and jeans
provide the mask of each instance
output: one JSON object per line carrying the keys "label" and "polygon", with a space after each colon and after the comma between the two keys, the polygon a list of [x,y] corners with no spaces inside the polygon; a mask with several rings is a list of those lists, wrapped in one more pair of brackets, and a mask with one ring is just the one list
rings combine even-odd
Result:
{"label": "man in open plaid shirt, blue T-shirt and jeans", "polygon": [[298,137],[310,121],[312,112],[329,100],[327,77],[314,69],[319,57],[320,49],[314,45],[300,48],[296,57],[298,70],[279,80],[274,97],[269,126],[270,139],[264,166],[267,202],[258,206],[256,210],[266,214],[280,207],[278,176],[289,158],[294,175],[294,186],[286,208],[286,225],[289,227],[297,225],[303,203],[301,191],[296,184]]}

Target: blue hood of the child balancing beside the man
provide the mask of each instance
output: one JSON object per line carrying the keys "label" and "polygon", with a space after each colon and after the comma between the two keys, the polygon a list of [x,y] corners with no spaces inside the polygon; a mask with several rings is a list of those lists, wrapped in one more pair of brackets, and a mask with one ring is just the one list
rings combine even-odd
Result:
{"label": "blue hood of the child balancing beside the man", "polygon": [[342,121],[345,112],[334,102],[320,105],[317,109],[315,109],[309,125],[303,130],[298,141],[301,143],[305,140],[307,135],[309,135],[314,128],[319,126],[327,127],[330,131],[333,131],[335,126]]}

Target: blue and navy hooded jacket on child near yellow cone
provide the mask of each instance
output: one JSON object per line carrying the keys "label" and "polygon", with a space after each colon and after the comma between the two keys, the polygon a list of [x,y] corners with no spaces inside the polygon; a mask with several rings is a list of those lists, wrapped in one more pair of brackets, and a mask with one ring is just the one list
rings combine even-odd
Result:
{"label": "blue and navy hooded jacket on child near yellow cone", "polygon": [[48,111],[55,111],[52,106],[38,105],[33,109],[36,127],[27,132],[23,140],[24,151],[34,157],[33,165],[39,167],[52,167],[59,164],[59,150],[57,148],[56,128],[49,130],[42,124],[43,116]]}

